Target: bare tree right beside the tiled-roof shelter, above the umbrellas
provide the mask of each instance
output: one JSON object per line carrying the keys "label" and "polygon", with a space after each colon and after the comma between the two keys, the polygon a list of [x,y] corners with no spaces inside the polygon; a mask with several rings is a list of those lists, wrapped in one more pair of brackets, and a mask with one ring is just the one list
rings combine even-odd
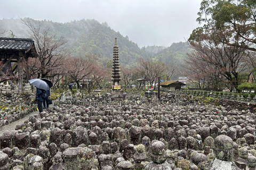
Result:
{"label": "bare tree right beside the tiled-roof shelter, above the umbrellas", "polygon": [[[35,42],[38,62],[34,67],[37,72],[37,78],[53,78],[63,65],[63,60],[69,56],[69,52],[64,45],[67,40],[63,37],[57,37],[49,34],[49,29],[43,29],[41,22],[35,24],[30,19],[21,19],[29,28],[29,35]],[[30,64],[30,63],[28,63]]]}

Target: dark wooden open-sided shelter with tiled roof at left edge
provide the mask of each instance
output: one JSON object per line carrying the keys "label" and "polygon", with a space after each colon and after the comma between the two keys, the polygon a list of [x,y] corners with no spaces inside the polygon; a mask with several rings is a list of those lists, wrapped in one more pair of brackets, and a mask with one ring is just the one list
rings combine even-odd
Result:
{"label": "dark wooden open-sided shelter with tiled roof at left edge", "polygon": [[[23,78],[28,83],[28,58],[36,57],[36,48],[34,41],[28,38],[4,38],[0,37],[0,60],[3,61],[4,67],[0,70],[0,75],[18,73],[19,91],[22,91]],[[15,64],[17,63],[17,64]],[[9,80],[13,87],[14,84]]]}

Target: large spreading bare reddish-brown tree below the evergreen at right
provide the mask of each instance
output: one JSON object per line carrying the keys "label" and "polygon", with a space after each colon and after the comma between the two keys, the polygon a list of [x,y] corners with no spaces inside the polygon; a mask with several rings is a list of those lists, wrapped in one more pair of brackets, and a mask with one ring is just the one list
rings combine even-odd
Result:
{"label": "large spreading bare reddish-brown tree below the evergreen at right", "polygon": [[[229,36],[229,32],[209,30],[207,33],[197,32],[197,38],[190,35],[189,45],[196,53],[188,54],[187,64],[194,72],[199,73],[197,77],[207,79],[210,75],[221,78],[226,86],[233,91],[239,85],[239,75],[244,71],[247,60],[245,48],[239,46],[227,46],[222,39]],[[230,40],[233,44],[243,44],[241,39]],[[219,76],[221,75],[221,77]]]}

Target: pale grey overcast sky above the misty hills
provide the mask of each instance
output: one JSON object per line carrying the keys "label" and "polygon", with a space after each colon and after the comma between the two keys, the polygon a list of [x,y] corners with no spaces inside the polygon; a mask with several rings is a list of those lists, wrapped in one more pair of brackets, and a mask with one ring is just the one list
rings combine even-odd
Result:
{"label": "pale grey overcast sky above the misty hills", "polygon": [[0,19],[70,22],[95,19],[143,46],[185,42],[202,0],[1,0]]}

